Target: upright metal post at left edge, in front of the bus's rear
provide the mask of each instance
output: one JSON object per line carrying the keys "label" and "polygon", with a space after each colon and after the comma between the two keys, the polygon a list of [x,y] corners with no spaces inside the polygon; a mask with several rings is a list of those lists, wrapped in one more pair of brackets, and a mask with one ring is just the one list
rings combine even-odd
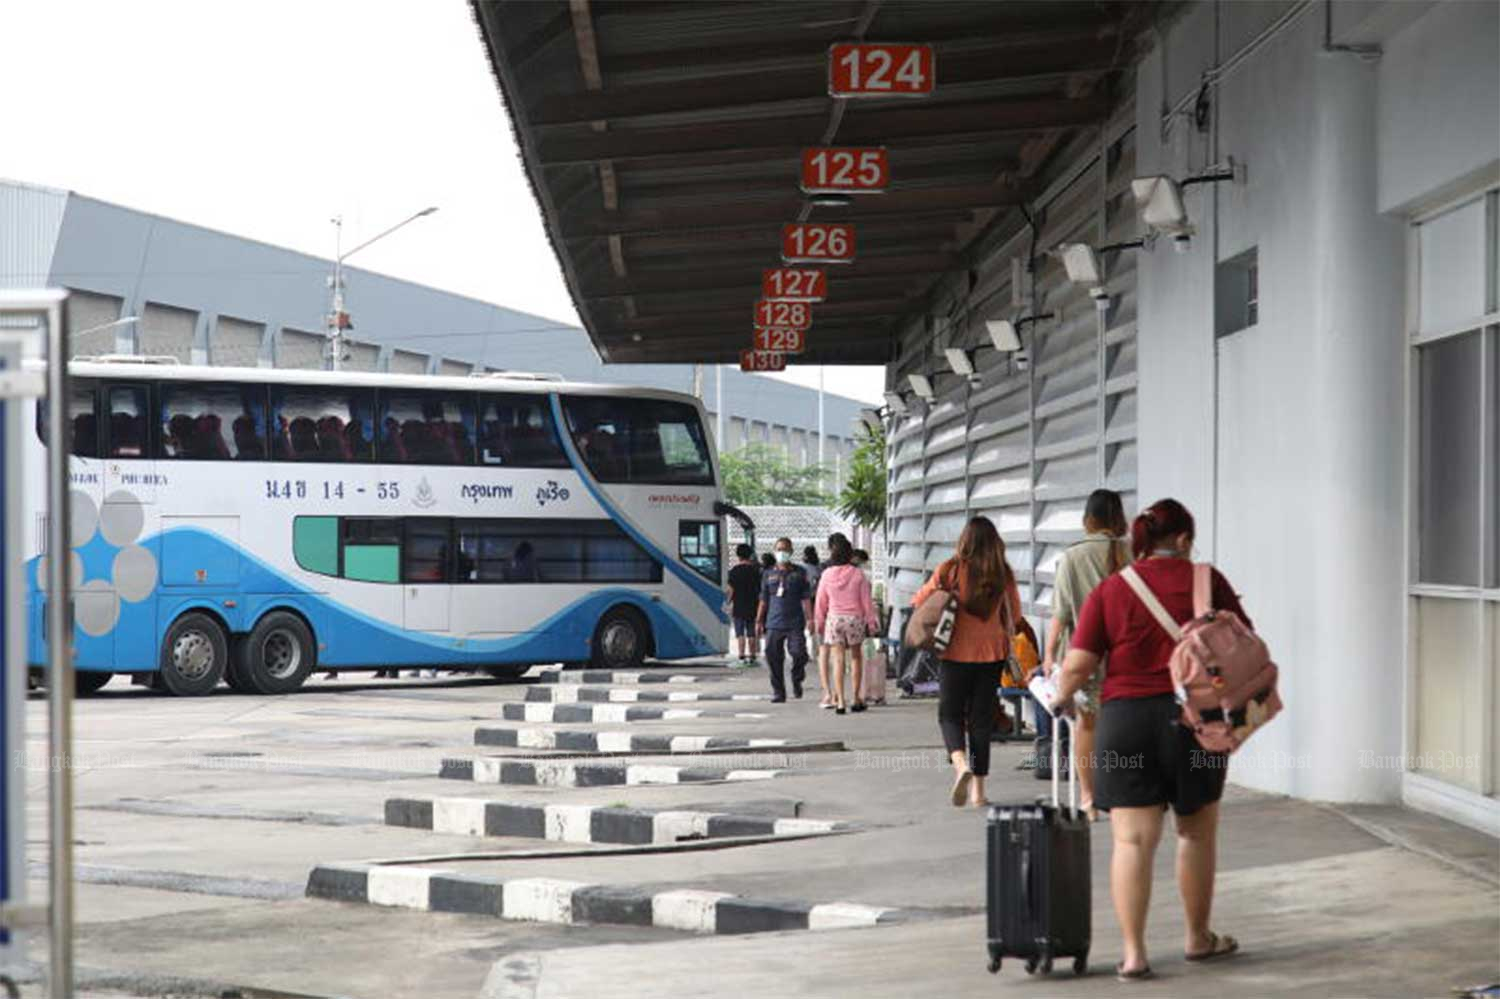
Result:
{"label": "upright metal post at left edge, in front of the bus's rear", "polygon": [[69,510],[68,302],[46,309],[46,706],[51,806],[48,880],[51,882],[50,994],[74,996],[74,606],[69,588],[72,512]]}

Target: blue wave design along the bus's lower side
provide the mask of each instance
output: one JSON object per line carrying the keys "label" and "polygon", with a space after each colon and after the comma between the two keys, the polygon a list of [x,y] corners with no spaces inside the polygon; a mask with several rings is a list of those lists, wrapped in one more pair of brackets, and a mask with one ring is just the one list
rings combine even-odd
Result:
{"label": "blue wave design along the bus's lower side", "polygon": [[[453,638],[428,632],[408,632],[363,610],[339,603],[327,592],[312,590],[274,568],[243,548],[201,528],[172,528],[144,538],[142,548],[160,561],[162,538],[171,537],[174,554],[195,564],[237,566],[234,579],[204,585],[162,585],[138,602],[120,602],[114,627],[102,634],[75,628],[75,654],[80,669],[120,672],[156,669],[162,636],[182,614],[212,610],[231,632],[248,632],[262,614],[276,608],[298,610],[308,618],[320,644],[318,662],[324,666],[466,666],[504,663],[550,663],[588,658],[590,642],[598,618],[615,604],[630,604],[651,624],[656,654],[660,658],[687,658],[712,651],[714,645],[681,612],[652,600],[650,594],[626,586],[597,590],[554,612],[525,633],[504,638]],[[100,543],[94,537],[84,548]],[[102,554],[90,552],[94,564]],[[27,562],[32,596],[28,658],[45,662],[42,640],[42,600],[36,572],[39,560]],[[86,578],[87,576],[86,573]],[[378,586],[404,598],[398,584],[351,584]],[[459,584],[462,588],[462,584]],[[496,596],[496,600],[502,600]],[[225,603],[234,606],[225,606]],[[396,604],[398,609],[400,604]]]}

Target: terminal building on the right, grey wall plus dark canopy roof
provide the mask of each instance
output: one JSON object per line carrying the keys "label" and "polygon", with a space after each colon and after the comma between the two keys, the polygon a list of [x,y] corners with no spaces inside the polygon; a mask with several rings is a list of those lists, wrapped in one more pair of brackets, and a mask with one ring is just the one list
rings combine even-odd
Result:
{"label": "terminal building on the right, grey wall plus dark canopy roof", "polygon": [[[1232,780],[1500,834],[1500,6],[471,6],[612,356],[723,360],[854,224],[810,358],[886,364],[897,602],[987,514],[1041,620],[1089,490],[1176,496],[1282,670]],[[830,96],[852,39],[933,93]],[[885,194],[806,202],[828,144]]]}

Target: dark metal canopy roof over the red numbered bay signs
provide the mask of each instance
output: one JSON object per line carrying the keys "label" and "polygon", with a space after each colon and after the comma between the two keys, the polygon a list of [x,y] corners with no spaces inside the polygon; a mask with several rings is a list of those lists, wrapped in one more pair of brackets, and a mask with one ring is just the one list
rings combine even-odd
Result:
{"label": "dark metal canopy roof over the red numbered bay signs", "polygon": [[[783,222],[854,220],[806,354],[894,332],[1053,154],[1104,122],[1152,0],[471,0],[579,315],[610,362],[732,363]],[[924,42],[928,98],[828,96],[828,46]],[[806,146],[890,150],[886,194],[813,207]]]}

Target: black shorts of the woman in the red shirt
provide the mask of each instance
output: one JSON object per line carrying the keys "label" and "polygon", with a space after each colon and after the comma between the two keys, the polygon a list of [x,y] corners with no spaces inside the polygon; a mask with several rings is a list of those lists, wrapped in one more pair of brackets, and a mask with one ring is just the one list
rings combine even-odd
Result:
{"label": "black shorts of the woman in the red shirt", "polygon": [[1198,746],[1172,694],[1106,700],[1094,740],[1094,807],[1172,806],[1192,814],[1224,794],[1228,756]]}

